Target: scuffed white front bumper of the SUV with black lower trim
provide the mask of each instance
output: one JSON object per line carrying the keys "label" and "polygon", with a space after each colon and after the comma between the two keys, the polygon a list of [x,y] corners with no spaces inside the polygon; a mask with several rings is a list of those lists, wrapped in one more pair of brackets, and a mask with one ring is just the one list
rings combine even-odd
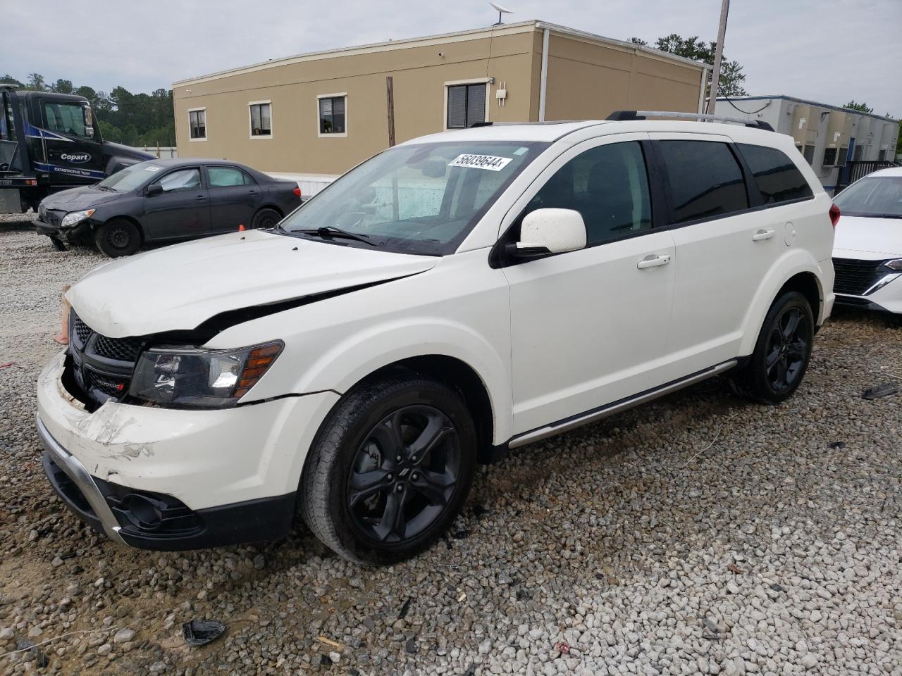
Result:
{"label": "scuffed white front bumper of the SUV with black lower trim", "polygon": [[176,410],[107,402],[88,411],[61,376],[38,379],[38,434],[51,486],[117,542],[187,550],[290,532],[300,470],[334,393]]}

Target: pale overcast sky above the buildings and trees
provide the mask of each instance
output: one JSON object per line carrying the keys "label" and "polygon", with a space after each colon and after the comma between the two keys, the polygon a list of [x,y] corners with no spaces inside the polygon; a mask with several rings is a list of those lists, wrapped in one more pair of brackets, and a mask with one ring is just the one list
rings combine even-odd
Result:
{"label": "pale overcast sky above the buildings and trees", "polygon": [[[653,43],[670,32],[713,41],[721,0],[502,0],[505,21],[541,19]],[[477,28],[485,0],[4,0],[0,70],[108,92],[308,51]],[[732,0],[726,55],[750,94],[902,116],[902,0]]]}

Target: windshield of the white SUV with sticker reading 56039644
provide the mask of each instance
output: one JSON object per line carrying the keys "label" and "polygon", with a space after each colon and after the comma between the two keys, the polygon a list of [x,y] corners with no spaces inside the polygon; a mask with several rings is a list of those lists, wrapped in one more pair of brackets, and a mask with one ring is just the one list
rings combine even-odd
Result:
{"label": "windshield of the white SUV with sticker reading 56039644", "polygon": [[281,230],[345,246],[452,253],[547,146],[438,142],[392,148],[337,179],[285,218]]}

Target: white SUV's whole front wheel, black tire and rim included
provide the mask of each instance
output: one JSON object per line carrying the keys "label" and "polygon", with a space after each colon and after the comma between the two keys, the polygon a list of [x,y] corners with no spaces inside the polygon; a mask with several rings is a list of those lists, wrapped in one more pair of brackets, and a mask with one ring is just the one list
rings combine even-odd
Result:
{"label": "white SUV's whole front wheel, black tire and rim included", "polygon": [[353,391],[323,423],[300,512],[345,559],[398,562],[451,525],[475,464],[473,417],[454,390],[413,373],[385,379]]}

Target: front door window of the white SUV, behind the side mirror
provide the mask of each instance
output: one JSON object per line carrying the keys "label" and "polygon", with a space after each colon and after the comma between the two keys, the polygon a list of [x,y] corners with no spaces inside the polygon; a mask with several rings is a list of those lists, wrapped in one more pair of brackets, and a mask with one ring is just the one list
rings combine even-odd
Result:
{"label": "front door window of the white SUV, behind the side mirror", "polygon": [[651,193],[638,141],[606,143],[557,169],[526,213],[574,209],[583,216],[587,246],[651,229]]}

